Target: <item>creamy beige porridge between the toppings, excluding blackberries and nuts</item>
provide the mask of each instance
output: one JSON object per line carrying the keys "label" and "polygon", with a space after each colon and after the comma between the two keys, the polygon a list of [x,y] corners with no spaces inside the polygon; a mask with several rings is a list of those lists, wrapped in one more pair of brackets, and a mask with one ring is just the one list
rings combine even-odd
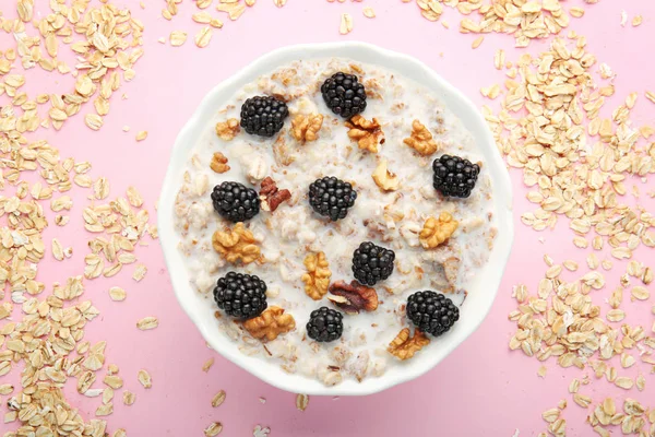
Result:
{"label": "creamy beige porridge between the toppings, excluding blackberries and nuts", "polygon": [[[348,138],[344,120],[323,102],[320,84],[337,71],[358,75],[367,87],[368,107],[361,116],[367,120],[374,117],[381,125],[384,142],[378,145],[378,153],[359,149],[357,141]],[[241,130],[234,139],[222,140],[215,125],[238,119],[241,104],[254,95],[275,95],[287,102],[290,116],[283,131],[263,139]],[[290,120],[298,114],[323,115],[318,140],[302,143],[291,134]],[[403,141],[410,137],[414,120],[425,125],[439,144],[430,156],[421,156]],[[215,152],[227,158],[228,172],[217,174],[210,168]],[[432,187],[432,161],[444,153],[480,164],[471,198],[444,199]],[[383,191],[371,177],[384,160],[400,180],[395,191]],[[336,223],[314,213],[307,199],[309,185],[324,176],[349,181],[358,194],[346,218]],[[228,263],[212,247],[212,235],[235,225],[214,211],[210,193],[225,180],[259,192],[265,177],[281,190],[288,189],[291,198],[274,212],[262,210],[245,223],[261,247],[263,261]],[[234,270],[265,281],[269,307],[284,308],[296,322],[295,330],[265,343],[224,314],[216,320],[217,329],[238,341],[245,354],[274,359],[286,371],[334,385],[347,377],[380,376],[389,366],[402,363],[386,347],[398,331],[412,328],[404,311],[412,293],[432,290],[448,293],[456,305],[463,303],[467,284],[486,263],[492,247],[491,191],[473,135],[434,92],[377,66],[338,58],[296,61],[236,91],[226,107],[217,108],[189,156],[175,221],[191,284],[206,296],[207,305],[218,310],[212,291],[218,277]],[[425,249],[418,234],[428,217],[439,217],[442,212],[452,214],[458,228],[445,244]],[[344,315],[344,334],[338,341],[310,341],[305,329],[310,312],[321,306],[335,307],[329,295],[313,300],[306,294],[301,280],[307,273],[305,258],[324,252],[331,283],[349,283],[354,280],[353,252],[362,241],[395,251],[393,274],[373,286],[380,300],[378,309]],[[419,353],[429,354],[438,342],[433,339]]]}

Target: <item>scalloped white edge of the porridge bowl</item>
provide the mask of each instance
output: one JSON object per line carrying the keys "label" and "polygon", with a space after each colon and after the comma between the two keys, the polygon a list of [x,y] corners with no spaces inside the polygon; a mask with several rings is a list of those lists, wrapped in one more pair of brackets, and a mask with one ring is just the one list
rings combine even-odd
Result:
{"label": "scalloped white edge of the porridge bowl", "polygon": [[[178,176],[181,175],[181,172],[183,170],[183,165],[187,162],[187,155],[184,153],[186,152],[184,145],[187,144],[187,138],[190,137],[191,132],[193,132],[194,130],[202,129],[205,127],[205,125],[203,125],[201,122],[201,120],[203,119],[203,115],[205,115],[207,111],[214,110],[215,104],[213,104],[213,102],[217,99],[216,96],[218,94],[221,94],[222,92],[224,92],[224,90],[234,88],[235,85],[238,82],[242,81],[245,78],[259,76],[261,73],[259,73],[258,71],[261,70],[262,66],[266,66],[266,64],[271,64],[271,63],[276,63],[277,66],[281,66],[285,62],[288,62],[291,59],[312,59],[312,58],[318,58],[318,57],[337,57],[337,58],[346,57],[346,58],[348,58],[348,57],[352,57],[352,55],[343,54],[344,51],[355,52],[358,50],[368,51],[368,52],[372,54],[371,56],[374,56],[377,58],[377,61],[367,61],[369,63],[379,64],[381,67],[384,67],[386,69],[392,69],[392,70],[395,69],[393,66],[396,66],[398,63],[404,63],[404,64],[410,66],[413,69],[416,69],[416,71],[418,71],[417,75],[418,74],[425,75],[427,79],[422,82],[419,80],[416,80],[416,79],[415,79],[415,81],[421,83],[424,86],[430,87],[431,90],[433,90],[436,92],[439,92],[441,94],[446,94],[448,98],[455,98],[456,101],[458,101],[457,105],[461,105],[463,107],[463,110],[468,113],[467,116],[472,117],[471,122],[478,123],[480,126],[481,138],[479,138],[479,134],[475,135],[476,142],[478,143],[478,147],[480,147],[480,149],[491,147],[490,153],[492,156],[491,156],[491,162],[488,164],[491,165],[491,168],[495,167],[497,170],[500,169],[500,172],[495,172],[495,175],[492,176],[492,180],[493,180],[493,185],[495,185],[493,191],[497,194],[502,193],[503,200],[501,203],[498,202],[498,199],[495,201],[496,225],[498,228],[498,235],[496,237],[493,250],[491,251],[491,255],[490,255],[490,257],[491,256],[499,257],[499,263],[500,263],[499,265],[500,267],[498,269],[496,269],[492,272],[492,274],[490,274],[490,277],[486,277],[486,281],[485,281],[486,293],[489,294],[489,296],[487,298],[488,305],[486,305],[486,307],[481,310],[479,319],[476,322],[474,322],[466,332],[461,333],[462,336],[458,342],[445,343],[442,346],[442,351],[444,351],[444,352],[440,356],[436,356],[433,362],[431,362],[427,366],[424,366],[424,368],[420,368],[420,367],[417,368],[416,366],[406,367],[404,369],[404,371],[401,373],[396,377],[386,377],[386,375],[377,377],[377,378],[371,377],[371,378],[368,378],[367,380],[365,380],[365,382],[368,380],[373,380],[376,383],[367,383],[367,385],[359,383],[356,386],[348,386],[348,387],[345,387],[345,383],[344,383],[345,381],[342,382],[341,385],[337,385],[334,387],[326,387],[322,382],[319,382],[320,383],[320,387],[319,387],[313,383],[310,383],[311,380],[308,377],[302,376],[302,375],[294,375],[295,377],[299,378],[298,383],[288,383],[286,381],[286,378],[283,378],[284,380],[282,380],[282,381],[276,380],[274,378],[276,373],[267,371],[270,369],[270,366],[255,365],[257,363],[260,362],[259,359],[253,361],[253,359],[251,359],[252,357],[249,357],[249,356],[240,353],[236,349],[234,351],[231,351],[231,350],[224,350],[224,349],[219,347],[217,345],[216,341],[214,341],[214,339],[216,336],[215,334],[219,331],[215,330],[214,332],[210,332],[209,329],[205,329],[205,326],[200,322],[200,318],[196,318],[194,311],[191,308],[190,303],[188,303],[188,300],[184,298],[187,295],[187,292],[183,291],[183,288],[191,290],[193,293],[198,293],[198,292],[194,291],[189,285],[186,277],[181,277],[182,275],[179,275],[179,274],[177,274],[177,275],[174,274],[174,272],[178,268],[178,263],[175,258],[176,258],[176,255],[179,256],[179,253],[177,253],[178,252],[177,240],[176,240],[177,232],[175,231],[175,226],[172,223],[172,216],[174,216],[172,212],[174,212],[174,208],[175,208],[175,199],[177,197],[176,184],[178,182]],[[332,54],[332,55],[327,55],[327,54]],[[294,57],[291,55],[297,55],[297,56]],[[439,84],[439,87],[434,87],[433,85],[428,85],[426,83],[427,81],[437,82]],[[248,81],[248,82],[250,82],[250,81]],[[462,117],[460,117],[460,118],[462,118]],[[488,161],[488,156],[487,156],[487,161]],[[212,91],[210,91],[209,94],[206,94],[203,97],[200,106],[193,111],[193,115],[191,116],[191,118],[184,123],[183,128],[178,133],[175,144],[172,146],[172,150],[170,153],[170,161],[168,164],[168,168],[166,170],[166,175],[165,175],[165,178],[163,181],[162,192],[159,196],[157,226],[158,226],[158,232],[159,232],[160,246],[162,246],[162,250],[164,252],[164,259],[166,262],[168,274],[170,276],[170,282],[171,282],[171,286],[174,288],[175,295],[176,295],[180,306],[183,308],[184,312],[187,314],[187,316],[193,321],[193,323],[196,326],[196,328],[201,332],[203,339],[209,343],[209,345],[214,351],[216,351],[222,356],[229,359],[237,366],[247,370],[251,375],[254,375],[259,379],[263,380],[264,382],[267,382],[271,386],[274,386],[276,388],[279,388],[279,389],[288,391],[288,392],[293,392],[293,393],[301,392],[301,393],[311,394],[311,395],[367,395],[367,394],[373,394],[373,393],[390,389],[390,388],[397,386],[400,383],[403,383],[403,382],[407,382],[409,380],[413,380],[415,378],[422,376],[428,370],[431,370],[443,358],[445,358],[448,355],[450,355],[460,344],[462,344],[468,336],[471,336],[471,334],[473,334],[473,332],[475,332],[479,328],[481,322],[486,319],[489,311],[491,310],[491,307],[492,307],[496,296],[498,294],[498,288],[500,287],[500,283],[501,283],[504,270],[507,268],[509,257],[511,253],[512,244],[514,240],[514,227],[513,227],[513,218],[512,218],[512,200],[513,200],[513,194],[512,194],[512,186],[511,186],[509,173],[507,170],[507,167],[505,167],[505,164],[504,164],[502,157],[500,156],[498,149],[496,147],[496,141],[493,140],[493,137],[492,137],[481,113],[468,99],[468,97],[466,97],[466,95],[464,95],[462,92],[460,92],[457,88],[455,88],[449,82],[446,82],[443,78],[441,78],[441,75],[439,75],[434,70],[432,70],[426,63],[424,63],[422,61],[420,61],[412,56],[404,55],[404,54],[401,54],[401,52],[397,52],[394,50],[381,48],[376,45],[372,45],[369,43],[362,43],[362,42],[300,44],[300,45],[285,46],[285,47],[275,49],[273,51],[270,51],[269,54],[258,58],[257,60],[254,60],[247,67],[237,71],[235,74],[233,74],[228,79],[218,83],[214,88],[212,88]],[[503,208],[499,209],[498,208],[499,205],[503,205]],[[502,238],[502,240],[500,240],[501,238]],[[303,385],[302,381],[305,381],[306,385]]]}

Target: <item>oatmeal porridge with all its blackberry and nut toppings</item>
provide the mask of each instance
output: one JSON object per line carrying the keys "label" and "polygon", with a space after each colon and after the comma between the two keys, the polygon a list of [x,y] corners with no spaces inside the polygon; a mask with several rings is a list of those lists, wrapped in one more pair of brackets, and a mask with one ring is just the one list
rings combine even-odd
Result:
{"label": "oatmeal porridge with all its blackberry and nut toppings", "polygon": [[347,59],[236,91],[194,145],[178,248],[216,329],[336,385],[456,330],[496,235],[473,135],[430,90]]}

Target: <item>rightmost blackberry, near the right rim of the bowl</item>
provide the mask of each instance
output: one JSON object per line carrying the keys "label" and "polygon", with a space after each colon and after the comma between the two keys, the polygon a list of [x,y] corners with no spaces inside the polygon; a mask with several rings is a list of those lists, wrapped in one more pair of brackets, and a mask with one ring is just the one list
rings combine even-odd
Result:
{"label": "rightmost blackberry, near the right rim of the bowl", "polygon": [[432,163],[433,186],[443,196],[467,198],[480,173],[480,166],[454,155],[441,155]]}

